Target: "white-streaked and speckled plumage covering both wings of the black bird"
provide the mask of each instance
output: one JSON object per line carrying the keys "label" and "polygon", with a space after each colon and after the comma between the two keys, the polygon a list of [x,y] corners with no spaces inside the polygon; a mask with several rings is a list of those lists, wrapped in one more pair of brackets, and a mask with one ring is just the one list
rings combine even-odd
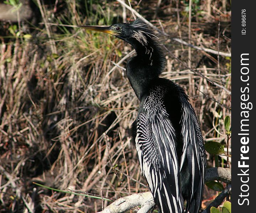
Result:
{"label": "white-streaked and speckled plumage covering both wings of the black bird", "polygon": [[[140,168],[162,213],[197,213],[201,207],[206,163],[203,138],[196,114],[182,93],[179,99],[183,153],[178,161],[175,144],[178,136],[164,105],[167,91],[162,85],[151,88],[142,102],[135,138]],[[190,197],[184,209],[180,174],[185,161],[191,189],[186,189]]]}

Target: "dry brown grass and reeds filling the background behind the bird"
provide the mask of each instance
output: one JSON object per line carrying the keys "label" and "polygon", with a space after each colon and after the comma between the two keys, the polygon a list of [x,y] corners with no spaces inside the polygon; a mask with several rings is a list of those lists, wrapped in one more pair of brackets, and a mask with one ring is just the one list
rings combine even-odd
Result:
{"label": "dry brown grass and reeds filling the background behind the bird", "polygon": [[[223,9],[225,1],[212,1],[210,7],[209,1],[203,2],[198,5],[201,12],[192,13],[191,43],[218,50],[217,26],[221,17],[220,32],[225,30],[225,36],[220,34],[220,50],[228,52],[229,3]],[[103,3],[87,5],[90,16],[83,20],[84,3],[59,1],[52,22],[110,24],[117,19],[110,14],[122,17],[122,7],[116,2]],[[150,3],[156,5],[158,1]],[[136,8],[133,1],[132,6]],[[41,7],[45,20],[52,18],[54,4]],[[144,1],[138,6],[148,20],[147,14],[154,14],[154,8],[148,9]],[[182,35],[187,40],[185,5],[180,2],[177,9],[179,16],[176,2],[162,2],[161,13],[150,21],[174,37]],[[133,17],[126,12],[127,17]],[[48,190],[32,182],[61,190],[84,190],[99,197],[102,191],[104,197],[113,200],[148,191],[135,149],[130,145],[129,127],[137,116],[138,100],[122,68],[126,60],[115,65],[130,53],[130,46],[110,35],[78,28],[47,28],[46,24],[31,28],[31,39],[0,37],[0,212],[97,212],[109,204]],[[10,35],[7,30],[5,33]],[[177,58],[188,60],[186,46],[165,37],[161,42]],[[206,141],[225,144],[223,118],[230,115],[230,95],[192,75],[170,55],[166,58],[162,77],[186,90],[192,77],[193,88],[188,92],[203,136]],[[218,64],[217,55],[191,49],[191,67],[230,91],[230,58],[220,56]],[[220,163],[226,166],[221,158]],[[208,164],[214,165],[210,155]],[[206,189],[204,199],[211,196],[213,193]]]}

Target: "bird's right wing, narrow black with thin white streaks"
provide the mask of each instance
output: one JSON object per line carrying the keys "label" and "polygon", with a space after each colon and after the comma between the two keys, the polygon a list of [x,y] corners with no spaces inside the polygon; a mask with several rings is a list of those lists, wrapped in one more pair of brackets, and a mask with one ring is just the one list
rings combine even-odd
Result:
{"label": "bird's right wing, narrow black with thin white streaks", "polygon": [[181,166],[187,161],[191,189],[185,212],[197,213],[201,208],[206,159],[203,137],[192,105],[181,100],[181,134],[183,136],[183,154]]}

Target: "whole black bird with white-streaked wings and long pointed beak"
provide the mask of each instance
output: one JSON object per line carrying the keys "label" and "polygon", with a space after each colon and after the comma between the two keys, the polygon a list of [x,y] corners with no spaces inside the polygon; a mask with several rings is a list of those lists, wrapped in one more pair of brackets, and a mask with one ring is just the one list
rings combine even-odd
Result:
{"label": "whole black bird with white-streaked wings and long pointed beak", "polygon": [[206,171],[203,137],[184,89],[159,77],[165,54],[154,31],[142,19],[78,27],[115,35],[135,49],[126,75],[140,101],[132,125],[140,168],[162,213],[198,213]]}

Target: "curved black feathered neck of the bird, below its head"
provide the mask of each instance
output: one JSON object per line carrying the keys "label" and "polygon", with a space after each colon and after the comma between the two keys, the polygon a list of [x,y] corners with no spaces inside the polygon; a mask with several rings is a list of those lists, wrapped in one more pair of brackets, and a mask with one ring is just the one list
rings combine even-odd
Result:
{"label": "curved black feathered neck of the bird, below its head", "polygon": [[129,43],[137,55],[128,61],[126,75],[135,94],[140,99],[164,69],[165,56],[160,45],[153,39],[148,39],[145,45],[137,40]]}

